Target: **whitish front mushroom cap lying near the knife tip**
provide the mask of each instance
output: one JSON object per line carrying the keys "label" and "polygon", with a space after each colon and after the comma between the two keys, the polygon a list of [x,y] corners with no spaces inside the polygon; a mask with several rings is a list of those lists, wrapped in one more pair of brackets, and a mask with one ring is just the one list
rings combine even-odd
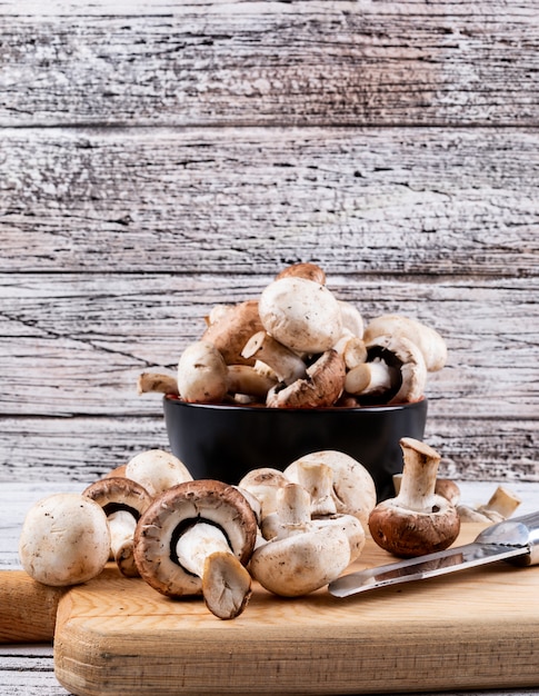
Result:
{"label": "whitish front mushroom cap lying near the knife tip", "polygon": [[337,578],[350,563],[350,541],[337,525],[272,539],[252,554],[249,570],[282,597],[307,595]]}

